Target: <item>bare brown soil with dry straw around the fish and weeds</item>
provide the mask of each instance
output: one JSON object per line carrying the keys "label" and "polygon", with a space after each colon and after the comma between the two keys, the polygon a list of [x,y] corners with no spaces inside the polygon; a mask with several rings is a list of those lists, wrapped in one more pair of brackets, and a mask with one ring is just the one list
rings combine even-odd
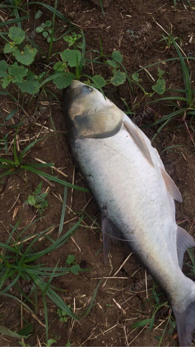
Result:
{"label": "bare brown soil with dry straw around the fish and weeds", "polygon": [[[48,5],[54,6],[54,1],[44,1]],[[114,49],[120,50],[123,55],[123,64],[129,74],[137,71],[140,66],[147,66],[159,59],[170,59],[176,57],[175,49],[171,46],[170,49],[166,48],[164,42],[158,43],[162,38],[162,29],[154,22],[158,22],[166,31],[169,32],[171,24],[173,25],[173,36],[180,37],[183,42],[183,50],[185,53],[195,52],[195,39],[189,42],[190,35],[193,34],[194,12],[189,7],[184,7],[183,2],[179,2],[176,10],[173,10],[173,1],[168,0],[162,2],[157,0],[153,1],[108,1],[105,6],[105,16],[103,16],[101,9],[96,3],[90,0],[77,0],[77,1],[59,1],[58,10],[71,22],[80,25],[86,37],[86,50],[88,56],[94,57],[93,50],[99,50],[99,35],[102,41],[104,54],[110,55]],[[40,6],[29,5],[30,13],[35,13],[38,9],[43,10]],[[33,18],[33,16],[32,16]],[[29,22],[23,22],[24,29],[33,29],[33,19],[30,18]],[[44,20],[51,19],[51,12],[44,9]],[[41,20],[40,20],[41,23]],[[58,18],[56,20],[56,27],[62,26],[62,22]],[[127,31],[132,31],[128,33]],[[164,33],[164,35],[166,35]],[[48,44],[42,39],[42,36],[37,35],[36,43],[44,50],[48,50]],[[60,40],[55,43],[53,50],[62,51],[67,47],[67,44]],[[192,81],[194,79],[194,70],[192,66]],[[35,66],[33,67],[35,68]],[[177,61],[169,61],[166,64],[160,64],[160,68],[166,73],[166,83],[172,89],[184,89],[180,64]],[[38,73],[43,70],[43,65],[36,65]],[[36,70],[37,71],[37,70]],[[110,70],[101,68],[98,65],[88,65],[85,68],[88,74],[102,74],[104,78],[110,76]],[[150,68],[150,74],[153,78],[157,79],[157,67]],[[142,78],[142,85],[151,92],[152,81],[148,78],[145,71],[140,73]],[[54,88],[51,91],[55,93],[59,102],[54,99],[51,102],[51,114],[58,132],[58,137],[52,131],[52,124],[49,117],[49,103],[43,97],[39,100],[39,106],[46,106],[47,110],[40,116],[37,123],[39,125],[26,126],[25,132],[18,134],[18,146],[22,150],[26,144],[23,140],[26,139],[27,143],[41,132],[41,136],[50,134],[51,136],[46,141],[38,142],[32,147],[31,151],[27,153],[25,158],[26,162],[41,159],[45,162],[54,162],[55,167],[60,169],[67,175],[64,177],[59,172],[55,175],[61,179],[66,179],[69,183],[73,181],[74,175],[74,159],[72,158],[66,133],[65,119],[62,114],[62,93],[56,92]],[[173,94],[174,92],[172,92]],[[127,83],[117,88],[110,85],[105,87],[105,94],[109,94],[109,98],[117,104],[122,110],[126,110],[124,103],[120,98],[125,98],[128,102],[130,109],[134,109],[137,101],[140,101],[143,94],[139,88],[134,88],[134,94],[129,89]],[[172,95],[170,94],[170,95]],[[17,96],[17,92],[14,94]],[[36,98],[35,98],[36,99]],[[139,102],[135,109],[135,119],[138,111],[146,109],[146,103],[151,99],[145,98]],[[37,100],[36,100],[37,101]],[[28,109],[29,114],[33,113],[36,106],[36,101],[31,108]],[[182,101],[179,101],[182,105]],[[23,100],[23,107],[25,100]],[[3,116],[7,115],[7,111],[11,111],[14,105],[9,99],[1,99],[1,108]],[[163,116],[170,112],[172,108],[168,107],[162,102],[151,105],[152,112],[147,117],[142,119],[141,125],[150,124],[157,117]],[[156,113],[157,112],[157,113]],[[21,114],[22,115],[22,114]],[[18,122],[17,116],[12,119],[15,123]],[[178,124],[181,126],[177,129],[162,131],[154,141],[154,146],[162,153],[164,149],[174,145],[185,145],[183,147],[172,147],[170,150],[165,150],[161,154],[161,158],[165,164],[166,170],[175,180],[180,192],[183,196],[183,204],[176,205],[177,221],[181,226],[190,231],[194,235],[194,219],[195,219],[195,195],[194,195],[194,146],[191,137],[189,136],[186,124],[183,119],[174,120],[169,128]],[[189,122],[187,122],[189,124]],[[139,124],[140,125],[140,124]],[[44,127],[49,128],[46,129]],[[51,130],[50,130],[51,129]],[[149,138],[152,138],[155,128],[144,129],[144,132]],[[193,135],[192,135],[193,136]],[[12,154],[10,155],[12,158]],[[51,173],[49,168],[45,172]],[[0,230],[1,240],[5,242],[8,238],[10,225],[20,218],[20,225],[18,230],[22,230],[27,226],[32,219],[39,217],[32,206],[27,207],[24,205],[28,195],[34,191],[36,186],[42,180],[39,176],[32,173],[22,171],[17,175],[9,177],[6,185],[3,186],[3,192],[0,192]],[[75,184],[84,187],[85,183],[79,174],[79,170],[75,170]],[[5,180],[3,181],[5,183]],[[44,189],[49,189],[48,203],[49,207],[46,209],[46,217],[39,220],[33,230],[27,231],[26,235],[30,232],[43,231],[52,225],[60,222],[63,187],[58,184],[50,184],[43,181]],[[18,197],[19,195],[19,197]],[[72,199],[71,199],[72,196]],[[18,198],[18,200],[17,200]],[[12,207],[14,202],[17,203]],[[71,203],[72,201],[72,203]],[[87,205],[86,205],[87,204]],[[85,207],[86,205],[86,207]],[[155,337],[160,337],[166,327],[166,322],[169,314],[169,306],[163,306],[155,316],[154,328],[149,331],[148,325],[146,327],[139,327],[137,329],[130,329],[130,327],[137,321],[142,321],[151,318],[154,299],[148,300],[146,297],[145,271],[142,266],[137,262],[132,254],[130,259],[122,266],[115,278],[113,274],[119,269],[122,262],[129,254],[125,245],[119,244],[115,248],[112,247],[109,263],[107,266],[103,264],[101,230],[100,230],[100,214],[93,198],[91,200],[90,193],[82,193],[68,189],[67,195],[67,209],[65,221],[69,221],[75,217],[70,211],[82,211],[85,208],[86,217],[84,222],[74,234],[74,239],[70,239],[64,247],[59,248],[57,253],[42,257],[42,263],[54,267],[59,260],[59,266],[65,266],[68,254],[74,254],[77,263],[82,268],[90,268],[89,272],[81,272],[77,276],[67,274],[58,279],[52,280],[52,285],[62,288],[64,292],[58,292],[63,300],[70,305],[75,302],[75,312],[84,313],[88,307],[90,300],[93,296],[94,290],[99,282],[99,278],[104,277],[101,286],[97,291],[95,297],[95,305],[93,306],[90,314],[79,322],[68,320],[67,323],[61,323],[57,315],[57,307],[54,306],[49,300],[48,304],[48,321],[49,321],[49,338],[57,340],[58,346],[65,346],[70,340],[73,346],[158,346],[159,340]],[[63,232],[67,231],[75,221],[70,221],[65,224]],[[21,228],[21,229],[20,229]],[[57,230],[54,230],[52,237],[57,237]],[[42,244],[41,247],[49,245],[49,240]],[[186,256],[186,261],[189,259]],[[189,271],[185,267],[184,270]],[[111,277],[106,279],[105,277]],[[193,279],[193,277],[192,277]],[[130,289],[136,283],[142,283],[141,288],[136,292]],[[26,286],[24,281],[18,281],[18,285],[23,288]],[[147,293],[149,298],[152,293],[152,280],[147,282]],[[161,290],[158,288],[158,292]],[[16,293],[10,292],[14,295]],[[44,328],[44,305],[41,294],[38,294],[38,307],[36,319],[28,311],[23,310],[25,322],[33,324],[34,335],[28,338],[28,344],[31,346],[40,346],[45,343],[45,328]],[[3,296],[1,299],[1,313],[0,324],[9,327],[14,331],[21,328],[21,307],[18,303],[9,297]],[[166,301],[164,296],[161,301]],[[31,307],[33,309],[33,307]],[[39,320],[39,321],[38,321]],[[41,323],[42,324],[41,324]],[[24,324],[24,323],[23,323]],[[0,337],[1,346],[20,346],[18,340]],[[162,345],[178,346],[178,340],[175,329],[166,330],[163,336]]]}

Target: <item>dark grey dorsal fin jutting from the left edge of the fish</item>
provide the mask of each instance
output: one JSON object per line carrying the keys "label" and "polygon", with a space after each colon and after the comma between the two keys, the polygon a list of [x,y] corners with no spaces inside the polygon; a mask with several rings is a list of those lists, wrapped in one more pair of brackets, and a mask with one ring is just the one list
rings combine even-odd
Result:
{"label": "dark grey dorsal fin jutting from the left edge of the fish", "polygon": [[103,254],[104,254],[104,264],[107,263],[108,253],[110,252],[111,240],[114,244],[117,243],[119,231],[112,223],[112,221],[102,213],[102,240],[103,240]]}

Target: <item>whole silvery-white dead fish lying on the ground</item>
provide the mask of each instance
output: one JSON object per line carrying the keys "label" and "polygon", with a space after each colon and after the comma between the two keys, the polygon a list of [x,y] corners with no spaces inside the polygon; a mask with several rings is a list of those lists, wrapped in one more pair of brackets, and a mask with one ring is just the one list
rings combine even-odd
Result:
{"label": "whole silvery-white dead fish lying on the ground", "polygon": [[182,271],[194,238],[177,225],[181,193],[150,139],[93,86],[74,80],[63,94],[69,145],[101,210],[103,255],[123,239],[167,295],[180,346],[195,329],[195,282]]}

